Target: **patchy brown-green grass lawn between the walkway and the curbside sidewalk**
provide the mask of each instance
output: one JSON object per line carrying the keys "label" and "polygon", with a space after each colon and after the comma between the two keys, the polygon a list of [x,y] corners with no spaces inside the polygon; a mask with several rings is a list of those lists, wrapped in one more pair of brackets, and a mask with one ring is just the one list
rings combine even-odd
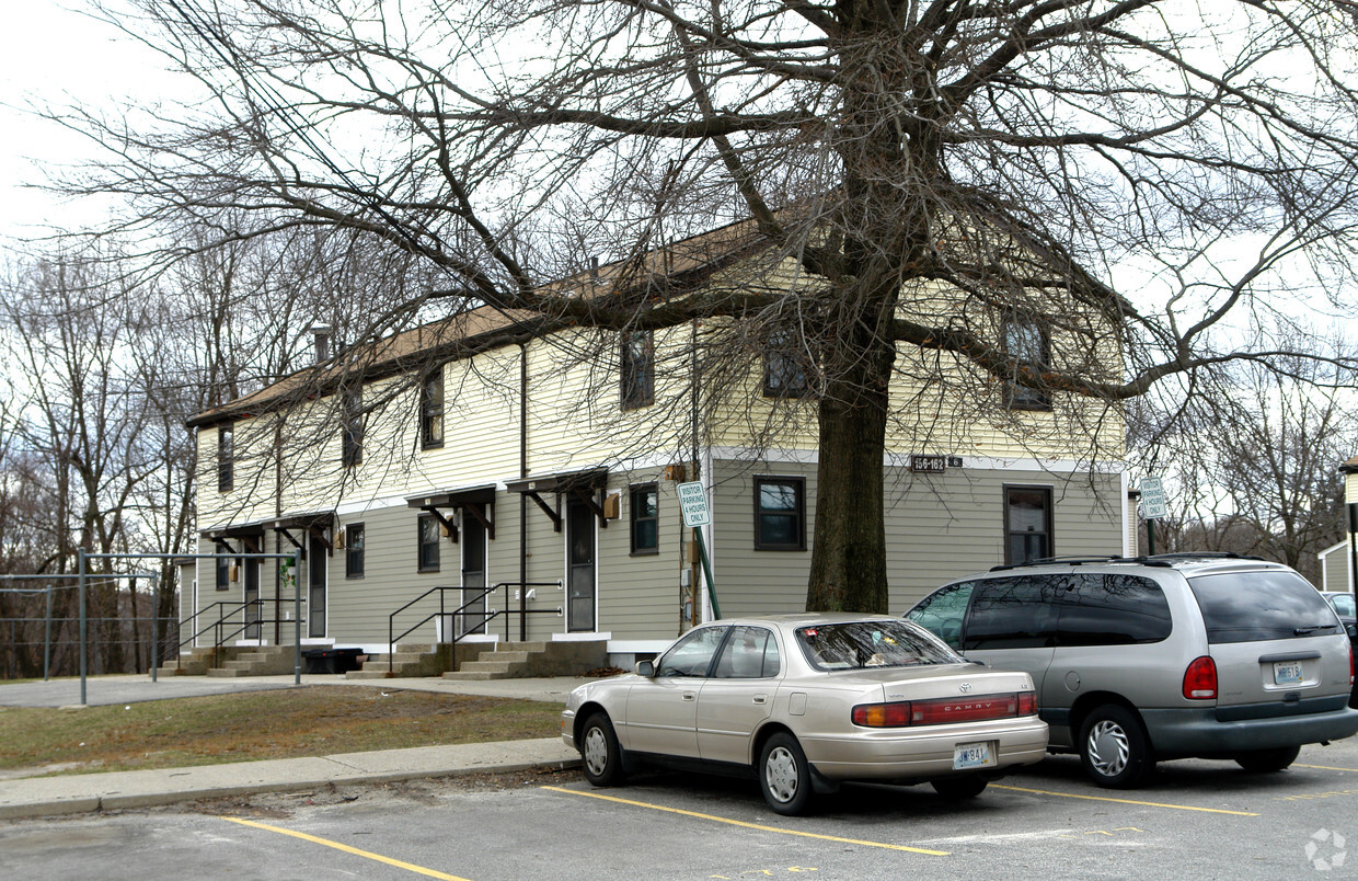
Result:
{"label": "patchy brown-green grass lawn between the walkway and the curbside sidewalk", "polygon": [[79,710],[0,707],[0,771],[132,771],[555,737],[559,719],[559,706],[535,700],[361,685]]}

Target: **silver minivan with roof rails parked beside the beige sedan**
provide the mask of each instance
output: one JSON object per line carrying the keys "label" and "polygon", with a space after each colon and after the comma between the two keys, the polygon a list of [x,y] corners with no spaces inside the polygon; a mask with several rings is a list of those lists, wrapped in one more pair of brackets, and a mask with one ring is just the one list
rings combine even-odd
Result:
{"label": "silver minivan with roof rails parked beside the beige sedan", "polygon": [[963,655],[1032,676],[1052,752],[1100,786],[1157,761],[1291,764],[1358,731],[1353,647],[1301,575],[1234,555],[1040,560],[944,586],[907,615]]}

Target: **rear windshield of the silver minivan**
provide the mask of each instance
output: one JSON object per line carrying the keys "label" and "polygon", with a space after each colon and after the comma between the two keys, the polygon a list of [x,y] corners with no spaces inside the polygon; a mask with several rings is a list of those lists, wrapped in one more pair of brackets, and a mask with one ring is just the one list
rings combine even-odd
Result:
{"label": "rear windshield of the silver minivan", "polygon": [[1334,609],[1296,572],[1229,572],[1188,579],[1209,643],[1294,639],[1339,629]]}

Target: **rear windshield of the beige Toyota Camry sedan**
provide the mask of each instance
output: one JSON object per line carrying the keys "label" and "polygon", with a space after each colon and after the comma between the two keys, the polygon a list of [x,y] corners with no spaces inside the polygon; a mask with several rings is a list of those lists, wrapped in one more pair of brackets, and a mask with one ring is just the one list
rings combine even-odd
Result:
{"label": "rear windshield of the beige Toyota Camry sedan", "polygon": [[819,670],[967,663],[936,636],[906,621],[850,621],[797,629],[807,661]]}

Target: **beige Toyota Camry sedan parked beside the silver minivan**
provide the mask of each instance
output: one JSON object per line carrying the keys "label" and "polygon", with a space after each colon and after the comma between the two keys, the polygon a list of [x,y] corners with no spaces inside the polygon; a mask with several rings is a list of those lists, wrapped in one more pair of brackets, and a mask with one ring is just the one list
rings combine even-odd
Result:
{"label": "beige Toyota Camry sedan parked beside the silver minivan", "polygon": [[856,615],[695,627],[636,674],[576,688],[561,726],[595,786],[648,761],[737,774],[781,814],[846,780],[978,795],[1047,748],[1027,673],[971,663],[909,621]]}

